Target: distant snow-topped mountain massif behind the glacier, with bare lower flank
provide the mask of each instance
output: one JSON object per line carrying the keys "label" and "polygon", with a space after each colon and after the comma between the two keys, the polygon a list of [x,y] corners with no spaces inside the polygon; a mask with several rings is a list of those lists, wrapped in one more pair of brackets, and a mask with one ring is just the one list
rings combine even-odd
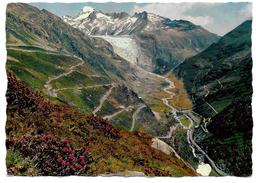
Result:
{"label": "distant snow-topped mountain massif behind the glacier, with bare lower flank", "polygon": [[[131,39],[131,47],[138,50],[133,58],[135,63],[160,74],[201,52],[219,38],[189,21],[170,20],[147,12],[130,16],[124,12],[103,13],[85,7],[74,17],[62,18],[88,35],[107,36],[106,40],[113,47],[120,47],[127,38]],[[118,41],[115,41],[116,36]]]}

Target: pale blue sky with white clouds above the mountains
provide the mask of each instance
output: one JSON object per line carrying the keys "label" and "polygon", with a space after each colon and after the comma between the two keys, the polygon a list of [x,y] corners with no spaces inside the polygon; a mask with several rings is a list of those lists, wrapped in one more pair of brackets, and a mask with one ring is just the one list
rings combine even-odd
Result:
{"label": "pale blue sky with white clouds above the mountains", "polygon": [[241,3],[30,3],[58,16],[76,15],[84,6],[103,12],[147,11],[174,19],[184,19],[201,25],[218,35],[224,35],[252,17],[252,4]]}

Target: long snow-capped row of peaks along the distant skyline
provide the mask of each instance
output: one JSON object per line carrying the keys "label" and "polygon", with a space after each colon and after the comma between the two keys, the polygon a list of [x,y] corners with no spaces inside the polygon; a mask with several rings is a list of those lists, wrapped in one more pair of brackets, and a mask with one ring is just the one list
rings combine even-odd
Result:
{"label": "long snow-capped row of peaks along the distant skyline", "polygon": [[188,21],[170,20],[146,11],[131,16],[125,12],[104,13],[88,6],[74,17],[64,16],[63,20],[89,35],[131,35],[144,31],[187,31],[200,28]]}

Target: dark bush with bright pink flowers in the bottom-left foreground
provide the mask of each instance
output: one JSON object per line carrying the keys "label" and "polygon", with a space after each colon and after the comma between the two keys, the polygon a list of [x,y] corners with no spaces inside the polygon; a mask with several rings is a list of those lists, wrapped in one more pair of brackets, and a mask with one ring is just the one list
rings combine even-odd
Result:
{"label": "dark bush with bright pink flowers in the bottom-left foreground", "polygon": [[[36,165],[38,175],[88,175],[93,162],[88,148],[74,149],[68,140],[52,135],[27,135],[9,139],[7,144],[19,150]],[[8,148],[8,147],[7,147]]]}

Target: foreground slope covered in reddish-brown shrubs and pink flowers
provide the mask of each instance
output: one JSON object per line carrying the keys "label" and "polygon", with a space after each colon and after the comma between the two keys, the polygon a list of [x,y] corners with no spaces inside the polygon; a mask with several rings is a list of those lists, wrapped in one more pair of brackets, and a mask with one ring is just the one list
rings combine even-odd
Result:
{"label": "foreground slope covered in reddish-brown shrubs and pink flowers", "polygon": [[152,137],[55,104],[8,73],[6,165],[9,175],[195,176],[176,157],[151,147]]}

